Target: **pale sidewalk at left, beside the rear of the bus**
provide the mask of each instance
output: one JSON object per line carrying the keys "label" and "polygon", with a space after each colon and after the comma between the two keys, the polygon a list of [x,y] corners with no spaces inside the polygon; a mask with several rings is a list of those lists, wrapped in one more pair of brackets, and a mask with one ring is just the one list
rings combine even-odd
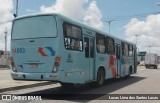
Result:
{"label": "pale sidewalk at left, beside the rear of the bus", "polygon": [[13,80],[10,76],[10,70],[2,70],[0,68],[0,93],[8,90],[19,90],[25,88],[32,88],[37,86],[44,86],[54,84],[48,81],[21,81]]}

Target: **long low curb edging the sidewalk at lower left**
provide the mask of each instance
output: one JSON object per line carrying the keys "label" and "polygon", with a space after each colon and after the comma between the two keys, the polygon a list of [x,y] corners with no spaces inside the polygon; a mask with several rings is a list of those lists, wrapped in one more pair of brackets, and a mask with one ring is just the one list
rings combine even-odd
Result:
{"label": "long low curb edging the sidewalk at lower left", "polygon": [[51,84],[56,84],[56,83],[55,82],[43,82],[43,83],[29,84],[29,85],[23,85],[23,86],[2,88],[0,89],[0,93],[6,92],[6,91],[12,91],[12,90],[20,90],[20,89],[27,89],[27,88],[32,88],[32,87],[51,85]]}

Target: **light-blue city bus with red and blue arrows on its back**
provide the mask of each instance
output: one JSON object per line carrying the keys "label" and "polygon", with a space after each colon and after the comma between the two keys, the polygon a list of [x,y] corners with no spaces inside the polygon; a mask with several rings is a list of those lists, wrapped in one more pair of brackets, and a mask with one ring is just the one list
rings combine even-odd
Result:
{"label": "light-blue city bus with red and blue arrows on its back", "polygon": [[137,71],[136,45],[61,14],[13,20],[11,76],[63,86],[130,76]]}

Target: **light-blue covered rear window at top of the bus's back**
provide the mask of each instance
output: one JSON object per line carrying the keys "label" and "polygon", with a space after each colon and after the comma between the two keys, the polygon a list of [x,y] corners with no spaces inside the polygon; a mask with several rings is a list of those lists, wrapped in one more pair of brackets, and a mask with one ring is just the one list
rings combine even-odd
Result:
{"label": "light-blue covered rear window at top of the bus's back", "polygon": [[17,19],[13,23],[12,39],[56,37],[53,16],[33,16]]}

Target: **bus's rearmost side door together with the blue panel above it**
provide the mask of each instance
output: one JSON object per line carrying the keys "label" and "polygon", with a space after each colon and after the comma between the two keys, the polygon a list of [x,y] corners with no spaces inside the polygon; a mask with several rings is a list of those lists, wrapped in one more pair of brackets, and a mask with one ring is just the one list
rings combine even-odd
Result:
{"label": "bus's rearmost side door together with the blue panel above it", "polygon": [[85,76],[85,82],[90,82],[96,80],[96,32],[91,31],[86,28],[83,30],[83,41],[84,41],[84,61],[85,71],[87,72]]}

